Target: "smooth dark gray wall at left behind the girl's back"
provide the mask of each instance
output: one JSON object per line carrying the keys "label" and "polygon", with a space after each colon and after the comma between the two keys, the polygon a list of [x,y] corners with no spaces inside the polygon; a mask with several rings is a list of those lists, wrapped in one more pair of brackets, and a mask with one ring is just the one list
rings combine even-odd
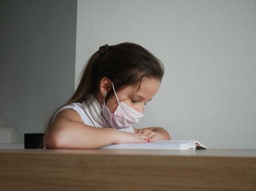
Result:
{"label": "smooth dark gray wall at left behind the girl's back", "polygon": [[0,1],[0,114],[39,133],[74,91],[77,1]]}

